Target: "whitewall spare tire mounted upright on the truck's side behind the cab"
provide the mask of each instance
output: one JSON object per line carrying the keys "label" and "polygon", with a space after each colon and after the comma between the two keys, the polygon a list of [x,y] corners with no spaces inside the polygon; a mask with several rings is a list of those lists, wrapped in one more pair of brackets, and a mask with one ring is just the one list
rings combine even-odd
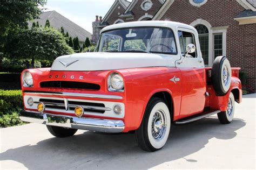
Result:
{"label": "whitewall spare tire mounted upright on the truck's side behind the cab", "polygon": [[212,85],[217,96],[223,96],[230,89],[231,66],[226,56],[217,56],[212,66]]}

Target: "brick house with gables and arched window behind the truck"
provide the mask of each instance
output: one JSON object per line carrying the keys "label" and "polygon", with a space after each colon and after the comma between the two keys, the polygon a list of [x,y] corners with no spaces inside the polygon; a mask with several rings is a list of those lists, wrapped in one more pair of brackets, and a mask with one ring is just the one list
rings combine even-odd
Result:
{"label": "brick house with gables and arched window behind the truck", "polygon": [[[215,56],[226,55],[232,67],[247,73],[247,89],[256,90],[256,0],[116,0],[93,30],[99,33],[107,25],[137,20],[194,26],[205,65],[212,66]],[[97,41],[99,35],[93,36]]]}

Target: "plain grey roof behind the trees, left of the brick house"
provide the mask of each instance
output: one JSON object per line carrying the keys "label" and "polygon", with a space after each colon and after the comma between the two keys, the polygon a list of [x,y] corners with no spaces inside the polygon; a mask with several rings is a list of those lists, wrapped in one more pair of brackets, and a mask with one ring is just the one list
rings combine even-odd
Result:
{"label": "plain grey roof behind the trees, left of the brick house", "polygon": [[[73,23],[68,18],[60,15],[60,13],[56,11],[48,11],[43,12],[39,16],[39,19],[35,19],[34,22],[38,22],[39,25],[44,26],[46,20],[49,20],[50,25],[57,30],[60,30],[60,27],[63,27],[65,32],[69,32],[69,36],[72,38],[78,37],[79,41],[85,41],[85,39],[88,37],[91,39],[92,34],[76,23]],[[32,26],[32,22],[29,22],[29,27]]]}

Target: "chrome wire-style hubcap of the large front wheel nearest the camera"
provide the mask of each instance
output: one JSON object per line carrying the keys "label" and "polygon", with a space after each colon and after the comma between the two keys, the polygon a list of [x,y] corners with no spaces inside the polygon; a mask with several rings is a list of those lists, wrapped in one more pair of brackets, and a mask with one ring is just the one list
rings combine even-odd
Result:
{"label": "chrome wire-style hubcap of the large front wheel nearest the camera", "polygon": [[166,131],[166,116],[165,112],[158,110],[152,119],[151,133],[154,139],[160,140],[164,137]]}

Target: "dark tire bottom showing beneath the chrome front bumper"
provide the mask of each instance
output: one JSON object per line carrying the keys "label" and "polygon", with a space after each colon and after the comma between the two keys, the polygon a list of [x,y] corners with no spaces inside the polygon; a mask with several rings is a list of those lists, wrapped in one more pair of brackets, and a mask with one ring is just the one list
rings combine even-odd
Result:
{"label": "dark tire bottom showing beneath the chrome front bumper", "polygon": [[66,129],[58,126],[50,126],[46,125],[48,131],[55,137],[65,138],[69,136],[73,136],[77,132],[77,129]]}

